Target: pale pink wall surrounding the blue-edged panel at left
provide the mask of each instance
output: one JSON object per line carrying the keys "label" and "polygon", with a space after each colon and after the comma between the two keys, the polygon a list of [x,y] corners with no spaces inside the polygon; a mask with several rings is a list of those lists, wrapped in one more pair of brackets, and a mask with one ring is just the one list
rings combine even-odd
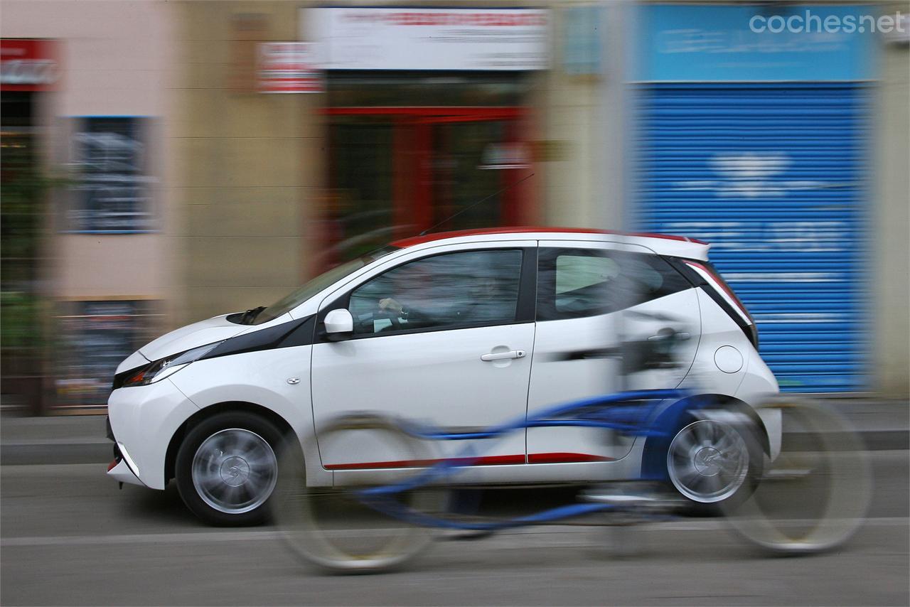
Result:
{"label": "pale pink wall surrounding the blue-edged panel at left", "polygon": [[[50,294],[59,299],[165,299],[173,292],[167,234],[173,228],[167,189],[171,111],[173,19],[161,2],[27,2],[3,6],[0,35],[58,41],[63,76],[55,92],[36,96],[43,147],[54,164],[66,147],[64,122],[72,116],[150,116],[157,126],[153,234],[61,234],[52,222]],[[57,219],[55,217],[55,219]]]}

